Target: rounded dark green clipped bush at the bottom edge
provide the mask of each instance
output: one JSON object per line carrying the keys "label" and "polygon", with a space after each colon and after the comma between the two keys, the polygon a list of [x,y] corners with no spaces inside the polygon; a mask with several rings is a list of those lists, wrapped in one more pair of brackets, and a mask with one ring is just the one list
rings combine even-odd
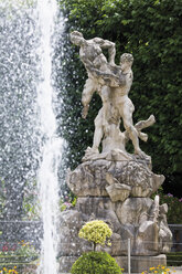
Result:
{"label": "rounded dark green clipped bush at the bottom edge", "polygon": [[121,274],[121,270],[108,253],[88,252],[72,266],[72,274]]}

